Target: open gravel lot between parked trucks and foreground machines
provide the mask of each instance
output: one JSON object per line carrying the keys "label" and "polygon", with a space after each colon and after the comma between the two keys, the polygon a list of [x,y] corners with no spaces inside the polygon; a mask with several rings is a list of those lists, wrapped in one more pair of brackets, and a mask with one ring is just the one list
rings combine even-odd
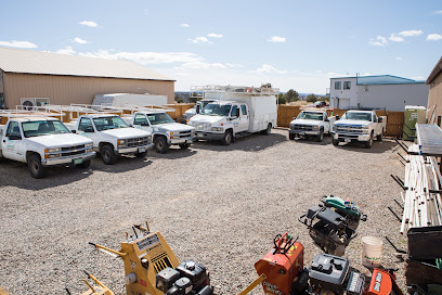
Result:
{"label": "open gravel lot between parked trucks and foreground machines", "polygon": [[[361,267],[364,235],[388,235],[399,247],[406,236],[387,209],[400,208],[403,178],[392,140],[335,148],[324,142],[289,141],[287,131],[253,134],[230,146],[197,142],[187,151],[154,151],[145,161],[122,157],[114,166],[92,161],[88,170],[58,167],[42,180],[24,164],[0,164],[0,286],[11,294],[73,294],[87,290],[82,270],[95,274],[116,294],[125,294],[120,259],[99,255],[88,242],[119,249],[125,232],[147,220],[168,241],[179,260],[193,259],[211,272],[218,294],[236,294],[257,278],[253,264],[277,233],[299,235],[304,264],[321,251],[298,217],[322,195],[351,198],[368,215],[347,248]],[[385,242],[386,243],[386,242]],[[384,266],[404,264],[384,246]],[[255,294],[263,294],[260,287]]]}

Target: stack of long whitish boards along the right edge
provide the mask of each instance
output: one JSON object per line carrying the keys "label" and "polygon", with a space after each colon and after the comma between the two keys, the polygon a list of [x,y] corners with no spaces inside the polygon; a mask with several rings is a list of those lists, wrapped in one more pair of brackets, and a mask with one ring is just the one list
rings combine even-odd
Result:
{"label": "stack of long whitish boards along the right edge", "polygon": [[[419,146],[412,144],[408,152],[418,153]],[[442,226],[441,181],[435,157],[406,156],[401,233],[415,227]]]}

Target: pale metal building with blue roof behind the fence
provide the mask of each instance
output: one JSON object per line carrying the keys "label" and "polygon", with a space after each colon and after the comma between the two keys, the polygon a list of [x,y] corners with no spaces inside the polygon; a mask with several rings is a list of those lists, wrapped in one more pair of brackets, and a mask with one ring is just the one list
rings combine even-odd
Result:
{"label": "pale metal building with blue roof behind the fence", "polygon": [[427,105],[425,81],[391,75],[330,78],[330,107],[385,108],[404,112],[405,105]]}

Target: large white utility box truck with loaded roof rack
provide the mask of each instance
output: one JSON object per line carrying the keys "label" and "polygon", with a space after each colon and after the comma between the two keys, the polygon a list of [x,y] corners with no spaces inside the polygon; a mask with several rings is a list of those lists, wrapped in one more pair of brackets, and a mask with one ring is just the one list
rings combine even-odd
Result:
{"label": "large white utility box truck with loaded roof rack", "polygon": [[205,88],[205,98],[213,99],[198,115],[188,120],[196,138],[220,140],[229,145],[235,138],[262,132],[270,134],[276,126],[278,89],[270,85],[259,88],[212,86]]}

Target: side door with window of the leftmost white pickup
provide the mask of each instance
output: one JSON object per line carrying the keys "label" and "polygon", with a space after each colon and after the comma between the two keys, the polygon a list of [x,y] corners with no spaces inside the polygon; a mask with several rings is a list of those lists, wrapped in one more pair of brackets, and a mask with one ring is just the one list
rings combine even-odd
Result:
{"label": "side door with window of the leftmost white pickup", "polygon": [[1,142],[3,156],[15,161],[24,161],[23,134],[17,121],[10,121]]}

